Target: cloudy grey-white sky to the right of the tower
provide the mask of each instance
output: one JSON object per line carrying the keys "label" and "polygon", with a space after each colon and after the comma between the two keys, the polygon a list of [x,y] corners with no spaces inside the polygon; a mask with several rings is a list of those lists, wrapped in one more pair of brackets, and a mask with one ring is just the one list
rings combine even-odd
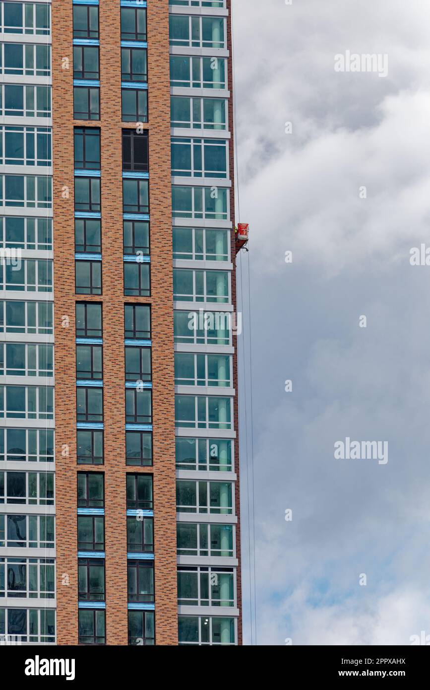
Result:
{"label": "cloudy grey-white sky to the right of the tower", "polygon": [[[430,635],[430,266],[409,262],[430,247],[430,5],[233,5],[257,642],[411,644]],[[387,77],[335,72],[347,50]],[[250,462],[249,418],[248,399]],[[346,437],[388,442],[387,464],[335,460]],[[249,644],[246,460],[243,434]]]}

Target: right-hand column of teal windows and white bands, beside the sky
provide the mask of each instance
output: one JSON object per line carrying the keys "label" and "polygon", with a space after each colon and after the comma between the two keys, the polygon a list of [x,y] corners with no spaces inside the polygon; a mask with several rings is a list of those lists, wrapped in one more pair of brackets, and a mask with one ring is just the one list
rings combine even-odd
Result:
{"label": "right-hand column of teal windows and white bands, beside the sky", "polygon": [[229,6],[169,19],[178,644],[238,644]]}

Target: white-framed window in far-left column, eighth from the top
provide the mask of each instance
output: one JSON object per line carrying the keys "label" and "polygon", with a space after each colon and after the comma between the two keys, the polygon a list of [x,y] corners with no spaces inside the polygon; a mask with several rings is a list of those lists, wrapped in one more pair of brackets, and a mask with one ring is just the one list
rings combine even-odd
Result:
{"label": "white-framed window in far-left column, eighth from the top", "polygon": [[52,302],[0,301],[0,333],[52,332]]}

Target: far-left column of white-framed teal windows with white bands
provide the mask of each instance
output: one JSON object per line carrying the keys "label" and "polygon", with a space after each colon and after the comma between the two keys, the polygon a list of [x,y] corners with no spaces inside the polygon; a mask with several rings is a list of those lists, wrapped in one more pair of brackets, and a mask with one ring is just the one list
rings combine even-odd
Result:
{"label": "far-left column of white-framed teal windows with white bands", "polygon": [[0,23],[0,642],[54,644],[51,3]]}

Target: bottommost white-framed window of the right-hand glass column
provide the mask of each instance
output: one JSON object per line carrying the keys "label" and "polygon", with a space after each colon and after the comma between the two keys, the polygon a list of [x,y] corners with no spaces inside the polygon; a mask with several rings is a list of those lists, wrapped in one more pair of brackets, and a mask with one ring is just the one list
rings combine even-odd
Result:
{"label": "bottommost white-framed window of the right-hand glass column", "polygon": [[235,644],[234,618],[178,616],[178,640],[183,644]]}

